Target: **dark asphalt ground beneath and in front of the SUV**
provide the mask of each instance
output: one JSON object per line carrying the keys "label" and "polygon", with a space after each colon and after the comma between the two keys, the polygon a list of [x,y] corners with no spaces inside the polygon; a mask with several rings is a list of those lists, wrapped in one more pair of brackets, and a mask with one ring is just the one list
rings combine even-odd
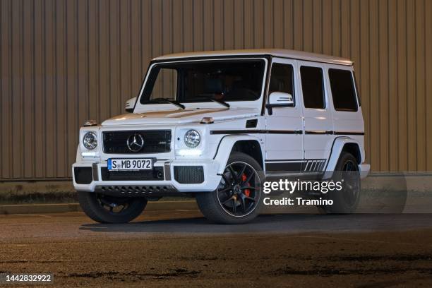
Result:
{"label": "dark asphalt ground beneath and in front of the SUV", "polygon": [[229,226],[189,210],[122,225],[69,212],[1,215],[0,231],[0,272],[51,272],[59,287],[432,286],[428,214],[263,215]]}

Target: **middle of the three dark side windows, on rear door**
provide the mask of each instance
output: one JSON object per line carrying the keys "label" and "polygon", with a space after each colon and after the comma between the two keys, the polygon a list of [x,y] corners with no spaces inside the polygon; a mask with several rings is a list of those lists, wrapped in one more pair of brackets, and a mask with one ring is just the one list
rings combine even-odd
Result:
{"label": "middle of the three dark side windows, on rear door", "polygon": [[323,69],[319,67],[301,66],[300,76],[304,107],[324,109]]}

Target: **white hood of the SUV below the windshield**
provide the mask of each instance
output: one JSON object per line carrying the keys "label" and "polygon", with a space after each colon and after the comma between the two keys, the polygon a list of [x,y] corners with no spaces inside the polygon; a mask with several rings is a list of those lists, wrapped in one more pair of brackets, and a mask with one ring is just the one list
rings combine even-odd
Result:
{"label": "white hood of the SUV below the windshield", "polygon": [[102,125],[186,124],[198,123],[203,117],[212,117],[215,121],[224,121],[258,116],[259,114],[258,109],[251,108],[165,110],[123,114],[102,122]]}

